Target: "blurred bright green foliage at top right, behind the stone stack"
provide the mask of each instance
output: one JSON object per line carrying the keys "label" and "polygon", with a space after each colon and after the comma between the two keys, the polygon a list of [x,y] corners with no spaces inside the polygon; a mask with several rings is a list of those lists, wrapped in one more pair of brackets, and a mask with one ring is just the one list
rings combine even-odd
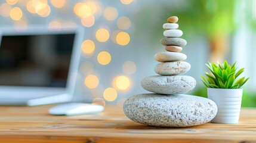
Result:
{"label": "blurred bright green foliage at top right, behind the stone stack", "polygon": [[208,38],[227,35],[235,29],[234,0],[190,0],[183,8],[169,10],[166,17],[177,15],[186,33],[203,33]]}

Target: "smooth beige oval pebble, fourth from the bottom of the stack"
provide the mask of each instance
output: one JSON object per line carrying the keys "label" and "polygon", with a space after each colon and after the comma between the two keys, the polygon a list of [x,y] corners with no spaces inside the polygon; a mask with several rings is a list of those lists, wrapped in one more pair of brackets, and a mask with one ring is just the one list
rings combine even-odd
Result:
{"label": "smooth beige oval pebble, fourth from the bottom of the stack", "polygon": [[168,61],[184,61],[187,58],[187,55],[180,52],[158,52],[155,54],[155,60],[159,62],[168,62]]}

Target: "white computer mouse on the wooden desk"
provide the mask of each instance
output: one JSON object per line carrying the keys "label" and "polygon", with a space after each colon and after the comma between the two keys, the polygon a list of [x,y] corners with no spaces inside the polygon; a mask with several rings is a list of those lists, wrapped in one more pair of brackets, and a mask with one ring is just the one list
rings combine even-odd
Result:
{"label": "white computer mouse on the wooden desk", "polygon": [[50,108],[48,111],[53,115],[78,115],[78,114],[95,114],[100,111],[103,111],[104,107],[102,105],[92,105],[86,103],[66,103],[57,105],[55,107]]}

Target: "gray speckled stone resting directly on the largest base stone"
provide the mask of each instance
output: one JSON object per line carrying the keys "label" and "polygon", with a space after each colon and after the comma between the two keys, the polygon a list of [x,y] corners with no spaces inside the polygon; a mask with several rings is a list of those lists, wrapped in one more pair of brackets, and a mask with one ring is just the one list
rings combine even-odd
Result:
{"label": "gray speckled stone resting directly on the largest base stone", "polygon": [[196,80],[191,76],[148,76],[141,86],[156,94],[186,94],[195,88]]}

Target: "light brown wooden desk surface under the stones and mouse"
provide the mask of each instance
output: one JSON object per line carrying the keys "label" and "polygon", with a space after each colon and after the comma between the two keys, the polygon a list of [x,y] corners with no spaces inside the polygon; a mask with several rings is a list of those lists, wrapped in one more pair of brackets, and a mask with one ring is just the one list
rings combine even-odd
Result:
{"label": "light brown wooden desk surface under the stones and mouse", "polygon": [[0,107],[0,142],[256,142],[256,109],[243,109],[235,125],[160,128],[132,122],[120,106],[100,114],[51,116],[52,106]]}

